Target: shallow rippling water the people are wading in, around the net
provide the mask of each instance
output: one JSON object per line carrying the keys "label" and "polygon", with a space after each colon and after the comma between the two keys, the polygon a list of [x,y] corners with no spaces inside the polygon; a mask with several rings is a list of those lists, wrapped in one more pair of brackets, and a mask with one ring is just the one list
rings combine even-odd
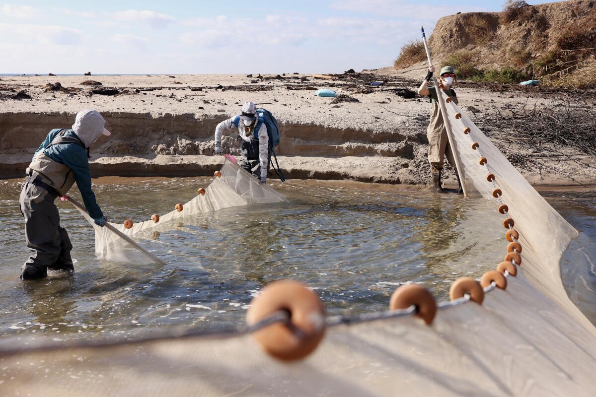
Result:
{"label": "shallow rippling water the people are wading in, around the net", "polygon": [[[188,201],[208,182],[102,180],[95,192],[111,220],[141,221]],[[92,228],[72,205],[59,203],[75,246],[76,273],[23,283],[17,277],[28,253],[18,212],[20,182],[0,182],[0,345],[39,336],[120,339],[229,327],[243,323],[254,294],[278,279],[316,289],[330,315],[386,310],[393,290],[405,282],[425,283],[445,300],[453,280],[479,277],[505,252],[502,215],[490,200],[363,183],[288,181],[274,187],[290,204],[229,208],[143,233],[141,243],[165,266],[98,260]],[[582,231],[568,251],[577,258],[566,257],[576,265],[564,279],[594,321],[594,195],[547,199]]]}

